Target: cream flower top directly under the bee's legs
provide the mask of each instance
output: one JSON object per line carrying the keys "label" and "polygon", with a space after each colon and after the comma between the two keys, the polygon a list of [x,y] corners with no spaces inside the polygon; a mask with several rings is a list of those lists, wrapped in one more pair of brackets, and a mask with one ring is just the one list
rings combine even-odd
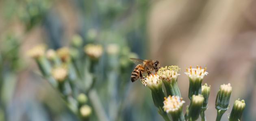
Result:
{"label": "cream flower top directly under the bee's legs", "polygon": [[148,86],[151,88],[151,87],[157,87],[159,85],[162,85],[162,81],[161,79],[159,79],[159,75],[151,74],[142,79],[142,84],[144,86]]}

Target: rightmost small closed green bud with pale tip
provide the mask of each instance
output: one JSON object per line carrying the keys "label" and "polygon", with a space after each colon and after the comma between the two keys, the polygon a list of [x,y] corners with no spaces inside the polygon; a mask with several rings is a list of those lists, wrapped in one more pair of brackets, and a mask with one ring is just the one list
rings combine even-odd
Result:
{"label": "rightmost small closed green bud with pale tip", "polygon": [[230,113],[229,121],[240,121],[244,109],[245,100],[236,100]]}

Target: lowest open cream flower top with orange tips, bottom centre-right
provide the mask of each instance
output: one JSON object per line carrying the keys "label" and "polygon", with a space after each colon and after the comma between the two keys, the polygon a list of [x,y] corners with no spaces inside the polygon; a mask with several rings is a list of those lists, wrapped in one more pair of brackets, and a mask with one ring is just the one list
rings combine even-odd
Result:
{"label": "lowest open cream flower top with orange tips, bottom centre-right", "polygon": [[179,96],[169,96],[168,98],[165,97],[165,101],[163,103],[164,111],[170,113],[182,109],[183,103],[185,103],[185,101],[182,100],[182,98]]}

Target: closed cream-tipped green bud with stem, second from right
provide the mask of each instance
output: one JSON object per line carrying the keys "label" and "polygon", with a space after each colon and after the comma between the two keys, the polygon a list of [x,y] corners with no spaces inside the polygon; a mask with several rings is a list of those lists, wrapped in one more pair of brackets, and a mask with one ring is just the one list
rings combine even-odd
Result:
{"label": "closed cream-tipped green bud with stem, second from right", "polygon": [[216,121],[220,121],[223,113],[228,110],[229,107],[229,99],[232,92],[232,87],[230,83],[223,84],[220,86],[216,100],[215,100],[215,108],[217,109],[217,119]]}

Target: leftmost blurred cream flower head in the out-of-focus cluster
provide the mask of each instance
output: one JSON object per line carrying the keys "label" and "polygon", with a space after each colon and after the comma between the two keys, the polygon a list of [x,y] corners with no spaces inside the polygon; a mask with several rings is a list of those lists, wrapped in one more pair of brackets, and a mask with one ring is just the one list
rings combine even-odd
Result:
{"label": "leftmost blurred cream flower head in the out-of-focus cluster", "polygon": [[32,58],[39,58],[40,56],[43,56],[46,51],[46,45],[44,44],[39,44],[32,49],[27,51],[27,55],[32,57]]}

